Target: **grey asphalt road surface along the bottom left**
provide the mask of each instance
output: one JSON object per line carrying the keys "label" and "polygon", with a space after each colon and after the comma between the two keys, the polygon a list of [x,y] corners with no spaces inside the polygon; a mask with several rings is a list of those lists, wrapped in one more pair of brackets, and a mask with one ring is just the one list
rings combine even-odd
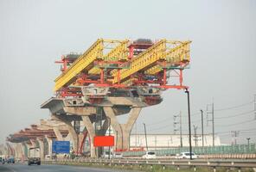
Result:
{"label": "grey asphalt road surface along the bottom left", "polygon": [[117,169],[96,169],[67,165],[0,164],[0,172],[118,172]]}

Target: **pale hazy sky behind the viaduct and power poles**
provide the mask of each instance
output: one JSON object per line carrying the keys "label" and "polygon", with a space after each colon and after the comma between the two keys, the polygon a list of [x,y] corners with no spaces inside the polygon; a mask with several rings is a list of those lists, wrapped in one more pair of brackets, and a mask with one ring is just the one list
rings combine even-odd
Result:
{"label": "pale hazy sky behind the viaduct and power poles", "polygon": [[[85,52],[98,38],[192,40],[184,83],[190,87],[197,132],[201,123],[195,113],[214,98],[216,110],[235,107],[215,112],[221,141],[230,144],[231,131],[240,131],[238,143],[248,137],[256,142],[255,0],[0,0],[1,143],[8,134],[49,118],[40,105],[54,94],[54,78],[60,74],[54,60]],[[144,122],[149,133],[172,133],[173,115],[180,111],[187,132],[185,93],[165,91],[160,105],[143,109],[138,132]],[[209,124],[206,132],[210,129]]]}

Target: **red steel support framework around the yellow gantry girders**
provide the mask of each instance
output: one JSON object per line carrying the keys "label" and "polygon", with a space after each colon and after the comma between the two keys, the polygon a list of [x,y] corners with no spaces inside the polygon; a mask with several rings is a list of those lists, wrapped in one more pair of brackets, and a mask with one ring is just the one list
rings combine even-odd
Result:
{"label": "red steel support framework around the yellow gantry girders", "polygon": [[[153,44],[152,44],[153,45]],[[99,74],[94,74],[96,77],[94,77],[94,79],[92,79],[93,77],[90,76],[90,78],[88,78],[88,74],[82,74],[80,76],[78,76],[76,83],[78,83],[79,85],[82,86],[87,86],[89,84],[94,84],[94,86],[96,87],[112,87],[112,88],[126,88],[129,89],[131,88],[131,85],[125,85],[122,84],[121,82],[121,69],[125,67],[125,64],[128,64],[131,61],[131,58],[134,57],[134,53],[138,53],[140,51],[143,51],[147,48],[149,48],[150,46],[152,46],[150,44],[138,44],[138,42],[132,42],[130,46],[128,46],[129,49],[129,56],[128,56],[128,61],[122,61],[122,60],[117,60],[117,61],[105,61],[103,59],[99,59],[97,61],[94,62],[94,67],[99,68],[100,72]],[[128,63],[127,63],[128,62]],[[147,78],[147,76],[144,74],[144,71],[142,71],[141,73],[138,72],[135,75],[132,75],[131,77],[136,78],[132,81],[133,86],[147,86],[149,84],[157,84],[154,85],[152,87],[157,87],[157,88],[163,88],[163,89],[188,89],[189,87],[182,85],[183,82],[183,73],[182,70],[184,69],[185,66],[187,66],[189,61],[183,61],[180,63],[169,63],[166,60],[160,60],[158,61],[155,65],[159,65],[163,70],[159,71],[158,73],[153,74],[152,76],[155,76],[155,78],[153,79],[149,79]],[[64,70],[67,69],[67,64],[68,64],[68,59],[65,57],[61,58],[61,61],[58,61],[56,63],[63,63],[64,64]],[[109,67],[110,64],[117,64],[117,65],[112,65],[115,67]],[[117,67],[116,67],[117,66]],[[173,67],[173,68],[171,68]],[[108,80],[108,78],[112,78],[111,77],[106,77],[105,75],[109,74],[109,71],[111,71],[112,69],[116,69],[117,72],[117,77],[118,77],[118,83],[116,84],[112,84],[111,80]],[[106,70],[106,73],[105,73]],[[168,76],[167,76],[167,71],[171,70],[171,71],[175,71],[176,72],[176,76],[174,77],[179,77],[179,83],[174,84],[174,85],[168,85]],[[179,72],[178,72],[178,71]],[[67,88],[66,88],[67,89]],[[72,90],[66,90],[64,88],[64,90],[61,91],[61,96],[62,97],[66,97],[66,96],[81,96],[80,93],[75,93]]]}

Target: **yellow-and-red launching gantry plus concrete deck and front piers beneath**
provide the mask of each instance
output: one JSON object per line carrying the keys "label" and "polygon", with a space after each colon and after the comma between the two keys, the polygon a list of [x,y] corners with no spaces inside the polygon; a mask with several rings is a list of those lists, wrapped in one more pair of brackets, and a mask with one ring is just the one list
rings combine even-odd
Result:
{"label": "yellow-and-red launching gantry plus concrete deck and front piers beneath", "polygon": [[[58,61],[63,66],[54,81],[56,96],[42,108],[49,108],[68,125],[72,121],[65,120],[67,116],[79,116],[91,145],[93,137],[104,135],[111,122],[117,138],[115,148],[127,150],[141,108],[159,104],[165,89],[188,89],[182,83],[182,72],[189,66],[190,43],[99,39],[83,54],[67,54]],[[127,123],[118,124],[116,116],[129,112]],[[92,157],[94,152],[91,146]]]}

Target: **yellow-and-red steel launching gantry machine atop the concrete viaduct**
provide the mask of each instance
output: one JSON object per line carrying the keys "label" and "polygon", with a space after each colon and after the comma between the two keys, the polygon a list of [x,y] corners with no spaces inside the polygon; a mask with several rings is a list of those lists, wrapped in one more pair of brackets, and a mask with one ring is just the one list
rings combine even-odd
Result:
{"label": "yellow-and-red steel launching gantry machine atop the concrete viaduct", "polygon": [[[79,57],[72,53],[58,61],[64,69],[55,79],[54,91],[60,97],[81,97],[81,87],[188,89],[183,85],[182,72],[189,66],[190,43],[189,40],[96,40]],[[168,84],[169,77],[178,79]]]}

